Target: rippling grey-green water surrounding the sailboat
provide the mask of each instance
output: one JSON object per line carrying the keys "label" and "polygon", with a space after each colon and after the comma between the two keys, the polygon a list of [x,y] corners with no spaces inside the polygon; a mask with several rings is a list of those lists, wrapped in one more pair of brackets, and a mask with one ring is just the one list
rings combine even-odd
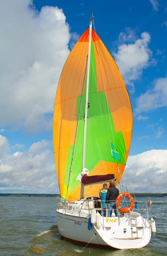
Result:
{"label": "rippling grey-green water surrounding the sailboat", "polygon": [[72,244],[60,239],[56,198],[0,197],[0,256],[166,256],[167,198],[153,201],[157,232],[142,249],[108,250]]}

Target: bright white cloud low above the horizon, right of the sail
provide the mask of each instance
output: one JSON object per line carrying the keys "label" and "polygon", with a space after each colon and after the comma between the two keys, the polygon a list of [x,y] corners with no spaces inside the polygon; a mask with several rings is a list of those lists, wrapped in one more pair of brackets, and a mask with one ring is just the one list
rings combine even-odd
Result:
{"label": "bright white cloud low above the horizon, right of the sail", "polygon": [[135,192],[167,192],[167,150],[150,150],[130,156],[127,166],[122,179],[129,191],[132,191],[131,181]]}

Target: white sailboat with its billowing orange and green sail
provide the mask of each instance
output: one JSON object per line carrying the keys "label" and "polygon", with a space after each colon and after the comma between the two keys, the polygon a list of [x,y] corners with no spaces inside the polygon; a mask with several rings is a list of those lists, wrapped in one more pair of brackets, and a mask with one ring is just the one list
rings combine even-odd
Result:
{"label": "white sailboat with its billowing orange and green sail", "polygon": [[[150,204],[144,202],[140,209],[140,202],[121,186],[132,137],[130,97],[92,23],[93,15],[64,64],[55,99],[58,230],[63,239],[76,244],[141,248],[156,229],[154,218],[148,216]],[[118,217],[114,212],[107,217],[107,209],[101,216],[99,191],[110,180],[120,192]]]}

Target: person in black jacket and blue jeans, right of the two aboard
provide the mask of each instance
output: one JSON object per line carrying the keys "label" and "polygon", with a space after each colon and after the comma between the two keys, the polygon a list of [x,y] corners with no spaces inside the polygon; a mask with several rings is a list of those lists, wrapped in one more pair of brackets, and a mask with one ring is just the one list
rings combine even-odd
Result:
{"label": "person in black jacket and blue jeans, right of the two aboard", "polygon": [[118,210],[117,210],[117,207],[115,204],[115,200],[119,195],[119,190],[117,188],[115,188],[114,180],[110,180],[109,185],[110,186],[108,188],[107,196],[106,196],[106,206],[107,206],[107,210],[108,210],[107,217],[112,216],[112,209],[114,209],[115,217],[118,217]]}

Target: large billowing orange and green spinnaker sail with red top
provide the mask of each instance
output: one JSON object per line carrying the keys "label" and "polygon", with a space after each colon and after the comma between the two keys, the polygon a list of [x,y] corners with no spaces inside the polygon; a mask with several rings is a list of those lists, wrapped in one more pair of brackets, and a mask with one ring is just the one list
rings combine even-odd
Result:
{"label": "large billowing orange and green spinnaker sail with red top", "polygon": [[[77,176],[82,170],[88,41],[89,28],[66,60],[55,99],[53,143],[58,184],[63,199],[66,198],[78,120],[67,197],[69,201],[80,199],[81,192]],[[117,185],[127,162],[131,136],[132,108],[127,89],[115,61],[92,29],[85,160],[89,175],[114,174]],[[85,186],[84,196],[98,197],[101,186]]]}

